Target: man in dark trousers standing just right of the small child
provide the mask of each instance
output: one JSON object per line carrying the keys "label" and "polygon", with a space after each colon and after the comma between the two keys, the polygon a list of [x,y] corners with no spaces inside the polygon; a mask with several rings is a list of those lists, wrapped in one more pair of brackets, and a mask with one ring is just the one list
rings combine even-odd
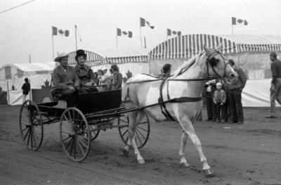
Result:
{"label": "man in dark trousers standing just right of the small child", "polygon": [[230,117],[228,122],[233,123],[237,121],[237,123],[240,125],[244,122],[241,94],[246,85],[247,76],[242,68],[238,68],[238,66],[235,65],[234,60],[230,59],[229,63],[235,72],[237,72],[238,77],[229,82]]}

